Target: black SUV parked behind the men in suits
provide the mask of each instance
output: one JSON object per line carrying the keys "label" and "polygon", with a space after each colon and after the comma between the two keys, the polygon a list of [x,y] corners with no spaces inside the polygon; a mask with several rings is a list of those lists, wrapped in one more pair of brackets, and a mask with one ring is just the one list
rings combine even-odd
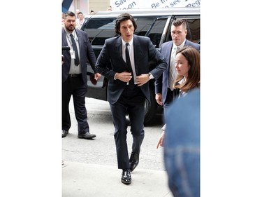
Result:
{"label": "black SUV parked behind the men in suits", "polygon": [[[99,56],[105,39],[118,36],[115,34],[115,18],[120,13],[130,13],[136,20],[137,29],[134,34],[150,37],[154,46],[160,50],[161,44],[170,41],[170,27],[173,20],[182,18],[187,21],[187,39],[200,43],[200,8],[152,8],[124,11],[100,12],[85,18],[82,30],[87,32],[96,57]],[[99,81],[94,80],[92,68],[87,67],[89,75],[87,97],[106,100],[108,79],[101,76]],[[149,123],[157,112],[158,104],[155,100],[154,81],[150,80],[151,104],[145,101],[145,121]]]}

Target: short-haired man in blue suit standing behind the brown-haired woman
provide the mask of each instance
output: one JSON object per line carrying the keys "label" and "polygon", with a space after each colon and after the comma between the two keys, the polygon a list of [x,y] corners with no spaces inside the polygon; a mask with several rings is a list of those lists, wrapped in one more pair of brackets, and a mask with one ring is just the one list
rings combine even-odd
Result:
{"label": "short-haired man in blue suit standing behind the brown-haired woman", "polygon": [[[161,54],[168,62],[168,68],[155,81],[156,100],[159,105],[163,105],[164,111],[173,102],[173,82],[175,80],[175,54],[183,46],[192,46],[200,51],[200,45],[186,39],[187,22],[177,19],[172,22],[170,29],[172,41],[163,43],[161,46]],[[171,74],[173,72],[173,74]],[[173,76],[173,78],[172,78]]]}

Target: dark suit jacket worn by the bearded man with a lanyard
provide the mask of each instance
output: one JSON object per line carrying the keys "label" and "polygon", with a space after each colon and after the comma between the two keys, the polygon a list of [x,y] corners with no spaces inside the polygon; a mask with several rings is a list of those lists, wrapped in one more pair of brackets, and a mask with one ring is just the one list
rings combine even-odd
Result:
{"label": "dark suit jacket worn by the bearded man with a lanyard", "polygon": [[[84,32],[80,29],[75,29],[75,33],[78,36],[79,50],[80,53],[80,65],[82,69],[82,79],[84,83],[87,83],[87,62],[91,65],[94,73],[96,73],[96,55],[94,55],[94,50],[92,49],[91,43],[89,42],[87,32]],[[68,46],[66,41],[66,32],[64,27],[62,28],[62,46]],[[64,55],[64,64],[62,65],[62,82],[66,81],[68,78],[70,64],[71,64],[71,55],[69,51],[62,51]]]}

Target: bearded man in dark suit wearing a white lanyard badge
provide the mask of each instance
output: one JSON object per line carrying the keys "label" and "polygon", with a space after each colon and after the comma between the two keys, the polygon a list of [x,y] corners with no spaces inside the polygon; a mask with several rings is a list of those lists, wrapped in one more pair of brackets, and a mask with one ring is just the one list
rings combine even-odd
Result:
{"label": "bearded man in dark suit wearing a white lanyard badge", "polygon": [[62,137],[66,137],[71,128],[68,105],[73,95],[75,118],[78,121],[78,138],[92,139],[96,135],[89,133],[85,94],[87,93],[87,62],[94,70],[94,79],[100,74],[96,72],[96,56],[89,42],[87,33],[75,29],[75,13],[65,13],[62,28],[62,46],[70,46],[70,51],[62,51]]}

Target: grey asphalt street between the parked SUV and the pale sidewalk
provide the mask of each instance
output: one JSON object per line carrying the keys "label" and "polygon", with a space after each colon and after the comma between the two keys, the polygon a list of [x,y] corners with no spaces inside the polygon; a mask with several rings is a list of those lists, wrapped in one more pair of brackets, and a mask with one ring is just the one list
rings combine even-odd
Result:
{"label": "grey asphalt street between the parked SUV and the pale sidewalk", "polygon": [[[92,163],[100,165],[115,165],[117,158],[114,141],[114,126],[108,102],[86,98],[87,116],[90,133],[96,134],[94,140],[77,138],[77,122],[70,103],[72,126],[67,137],[62,139],[62,156],[64,161]],[[145,127],[145,138],[141,146],[139,168],[164,170],[163,149],[156,149],[157,140],[161,135],[161,116],[154,121],[154,125]],[[130,127],[128,128],[128,130]],[[131,133],[127,135],[129,153],[132,144]]]}

